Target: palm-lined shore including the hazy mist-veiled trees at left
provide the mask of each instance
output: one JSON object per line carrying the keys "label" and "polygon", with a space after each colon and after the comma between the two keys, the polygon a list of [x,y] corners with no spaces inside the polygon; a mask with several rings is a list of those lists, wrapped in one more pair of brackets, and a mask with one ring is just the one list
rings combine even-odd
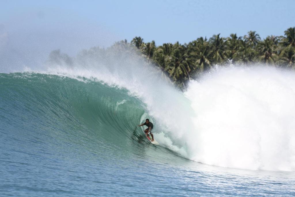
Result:
{"label": "palm-lined shore including the hazy mist-veiled trees at left", "polygon": [[[134,54],[158,67],[176,87],[184,90],[190,79],[202,76],[216,65],[262,64],[294,69],[295,27],[284,31],[284,36],[271,35],[263,40],[255,31],[249,31],[243,37],[231,34],[225,38],[217,34],[209,39],[200,37],[189,43],[164,43],[158,46],[154,40],[145,43],[143,38],[135,37],[130,43],[125,39],[108,48],[93,47],[83,50],[76,58],[55,50],[50,53],[48,62],[49,65],[73,66],[75,63],[84,65],[89,60],[96,62],[99,59],[102,64],[108,65],[118,58],[119,62],[129,61],[128,57]],[[86,59],[88,60],[85,61]]]}

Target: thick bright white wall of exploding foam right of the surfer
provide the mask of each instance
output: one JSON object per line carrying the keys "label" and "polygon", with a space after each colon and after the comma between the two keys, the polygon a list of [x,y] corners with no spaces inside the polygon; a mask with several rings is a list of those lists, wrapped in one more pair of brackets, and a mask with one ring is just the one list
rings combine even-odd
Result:
{"label": "thick bright white wall of exploding foam right of the surfer", "polygon": [[[222,167],[295,170],[295,74],[266,66],[219,69],[191,81],[197,114],[190,159]],[[194,140],[191,140],[194,139]]]}

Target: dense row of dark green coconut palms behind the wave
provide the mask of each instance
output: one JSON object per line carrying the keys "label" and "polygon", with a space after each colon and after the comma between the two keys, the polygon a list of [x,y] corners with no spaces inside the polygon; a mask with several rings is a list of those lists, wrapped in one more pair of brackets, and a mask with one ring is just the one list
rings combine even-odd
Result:
{"label": "dense row of dark green coconut palms behind the wave", "polygon": [[147,58],[158,65],[181,89],[192,75],[198,75],[212,68],[234,64],[263,63],[270,66],[295,68],[295,27],[290,27],[284,36],[268,36],[261,39],[256,31],[238,37],[231,34],[211,38],[200,37],[189,43],[164,43],[156,46],[155,41],[145,43],[143,38],[135,37],[116,44],[132,45]]}

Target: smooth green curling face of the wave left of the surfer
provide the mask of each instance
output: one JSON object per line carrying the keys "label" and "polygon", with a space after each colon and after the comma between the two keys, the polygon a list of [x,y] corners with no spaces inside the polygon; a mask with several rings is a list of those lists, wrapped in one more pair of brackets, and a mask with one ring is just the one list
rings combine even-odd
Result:
{"label": "smooth green curling face of the wave left of the surfer", "polygon": [[88,136],[99,139],[96,143],[122,147],[142,135],[135,126],[145,107],[126,89],[38,73],[0,74],[0,84],[3,132],[18,130],[56,140],[60,133],[69,133],[80,141]]}

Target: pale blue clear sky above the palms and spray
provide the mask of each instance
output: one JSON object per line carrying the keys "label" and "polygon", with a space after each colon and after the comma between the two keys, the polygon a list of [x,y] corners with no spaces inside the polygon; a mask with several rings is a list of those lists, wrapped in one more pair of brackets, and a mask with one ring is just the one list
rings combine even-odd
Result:
{"label": "pale blue clear sky above the palms and spray", "polygon": [[0,5],[0,42],[5,37],[10,46],[27,54],[42,51],[48,55],[61,49],[75,55],[135,36],[145,42],[155,40],[157,45],[188,43],[218,33],[243,36],[250,30],[265,38],[283,35],[295,26],[293,0],[1,0]]}

